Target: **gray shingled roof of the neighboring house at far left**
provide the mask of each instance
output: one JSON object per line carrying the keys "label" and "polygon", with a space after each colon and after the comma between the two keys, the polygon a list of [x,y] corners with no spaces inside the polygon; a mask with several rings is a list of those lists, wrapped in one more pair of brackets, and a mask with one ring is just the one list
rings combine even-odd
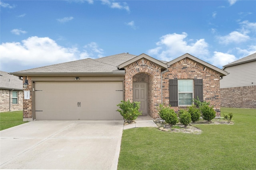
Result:
{"label": "gray shingled roof of the neighboring house at far left", "polygon": [[23,90],[23,82],[17,76],[0,71],[0,89]]}

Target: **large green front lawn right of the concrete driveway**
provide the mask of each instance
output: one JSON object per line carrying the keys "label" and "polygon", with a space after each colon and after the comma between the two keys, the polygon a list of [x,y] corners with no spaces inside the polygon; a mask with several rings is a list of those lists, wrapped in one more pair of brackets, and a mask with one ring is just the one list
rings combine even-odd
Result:
{"label": "large green front lawn right of the concrete driveway", "polygon": [[256,109],[221,108],[230,112],[234,125],[196,125],[200,135],[124,130],[118,170],[255,170]]}

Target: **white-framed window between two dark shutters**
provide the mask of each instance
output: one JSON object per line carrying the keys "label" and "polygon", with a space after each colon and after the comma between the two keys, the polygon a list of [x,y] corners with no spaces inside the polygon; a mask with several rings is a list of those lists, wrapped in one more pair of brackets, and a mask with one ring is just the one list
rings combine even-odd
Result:
{"label": "white-framed window between two dark shutters", "polygon": [[178,80],[178,105],[191,105],[193,98],[193,80]]}

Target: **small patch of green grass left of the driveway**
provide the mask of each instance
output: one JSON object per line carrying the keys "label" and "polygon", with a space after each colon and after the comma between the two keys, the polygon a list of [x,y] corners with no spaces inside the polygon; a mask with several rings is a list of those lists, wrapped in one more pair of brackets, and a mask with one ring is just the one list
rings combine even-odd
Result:
{"label": "small patch of green grass left of the driveway", "polygon": [[0,113],[0,131],[26,123],[22,111],[7,111]]}

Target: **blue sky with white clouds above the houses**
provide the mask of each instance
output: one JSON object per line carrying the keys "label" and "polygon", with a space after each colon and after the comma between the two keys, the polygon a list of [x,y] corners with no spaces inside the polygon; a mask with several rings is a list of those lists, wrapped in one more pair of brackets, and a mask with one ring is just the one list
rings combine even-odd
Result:
{"label": "blue sky with white clouds above the houses", "polygon": [[256,53],[255,0],[1,0],[0,70],[119,53],[214,66]]}

